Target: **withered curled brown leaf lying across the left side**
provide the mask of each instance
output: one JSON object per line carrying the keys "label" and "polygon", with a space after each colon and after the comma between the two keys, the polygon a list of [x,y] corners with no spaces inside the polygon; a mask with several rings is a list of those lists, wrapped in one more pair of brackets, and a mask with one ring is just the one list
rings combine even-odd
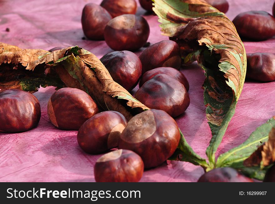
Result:
{"label": "withered curled brown leaf lying across the left side", "polygon": [[0,42],[0,89],[37,91],[40,85],[86,91],[102,110],[115,110],[127,119],[149,109],[114,82],[101,61],[78,46],[48,52],[22,50]]}

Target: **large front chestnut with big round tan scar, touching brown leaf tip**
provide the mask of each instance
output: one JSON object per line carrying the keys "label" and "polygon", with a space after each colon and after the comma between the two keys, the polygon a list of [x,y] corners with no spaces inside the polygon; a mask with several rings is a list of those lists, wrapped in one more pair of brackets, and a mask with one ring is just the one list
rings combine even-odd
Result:
{"label": "large front chestnut with big round tan scar, touching brown leaf tip", "polygon": [[150,109],[129,120],[118,148],[132,150],[141,156],[145,168],[152,168],[172,156],[179,140],[176,121],[163,110]]}

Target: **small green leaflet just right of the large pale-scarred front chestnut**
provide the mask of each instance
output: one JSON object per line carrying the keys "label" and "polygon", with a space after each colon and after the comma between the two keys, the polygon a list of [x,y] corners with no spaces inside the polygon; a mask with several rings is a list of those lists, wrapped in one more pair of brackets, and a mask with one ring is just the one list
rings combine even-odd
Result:
{"label": "small green leaflet just right of the large pale-scarred front chestnut", "polygon": [[197,155],[194,150],[189,146],[181,130],[180,134],[181,139],[178,148],[176,149],[175,153],[169,158],[169,160],[190,162],[194,165],[200,165],[204,169],[209,168],[206,160]]}

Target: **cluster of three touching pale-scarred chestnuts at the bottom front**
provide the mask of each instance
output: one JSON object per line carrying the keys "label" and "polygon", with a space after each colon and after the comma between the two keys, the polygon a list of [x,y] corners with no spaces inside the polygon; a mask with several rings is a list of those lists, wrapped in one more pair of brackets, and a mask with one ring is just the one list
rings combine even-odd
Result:
{"label": "cluster of three touching pale-scarred chestnuts at the bottom front", "polygon": [[104,111],[80,127],[77,139],[86,153],[118,148],[97,160],[96,181],[138,182],[144,168],[156,167],[172,156],[180,131],[176,121],[163,110],[144,111],[128,122],[116,111]]}

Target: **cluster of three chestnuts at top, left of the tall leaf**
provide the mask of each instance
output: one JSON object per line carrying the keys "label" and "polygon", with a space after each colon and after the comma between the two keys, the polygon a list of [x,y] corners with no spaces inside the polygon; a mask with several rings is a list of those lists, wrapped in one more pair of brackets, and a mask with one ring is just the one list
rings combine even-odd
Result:
{"label": "cluster of three chestnuts at top, left of the tall leaf", "polygon": [[84,35],[90,40],[105,40],[115,51],[135,51],[149,37],[148,22],[137,16],[135,0],[103,0],[100,5],[86,4],[81,23]]}

